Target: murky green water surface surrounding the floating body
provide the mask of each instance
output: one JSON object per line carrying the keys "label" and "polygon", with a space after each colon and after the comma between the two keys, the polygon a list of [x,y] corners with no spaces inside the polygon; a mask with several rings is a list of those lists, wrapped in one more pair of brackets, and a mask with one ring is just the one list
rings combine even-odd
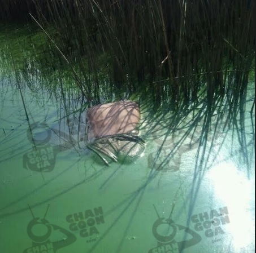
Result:
{"label": "murky green water surface surrounding the floating body", "polygon": [[154,119],[141,105],[144,154],[106,166],[79,100],[21,93],[29,121],[1,79],[1,252],[253,252],[253,96],[244,126],[214,113],[203,133],[203,106]]}

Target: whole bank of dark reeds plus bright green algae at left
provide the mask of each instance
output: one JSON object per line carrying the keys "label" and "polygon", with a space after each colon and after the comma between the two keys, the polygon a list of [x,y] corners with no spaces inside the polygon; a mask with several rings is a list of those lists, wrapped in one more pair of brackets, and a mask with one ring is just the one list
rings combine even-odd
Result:
{"label": "whole bank of dark reeds plus bright green algae at left", "polygon": [[193,113],[191,126],[203,119],[201,144],[216,113],[216,122],[228,114],[224,127],[244,127],[255,72],[254,1],[2,2],[0,70],[14,70],[29,88],[37,81],[86,106],[147,101],[147,124],[164,122],[166,136]]}

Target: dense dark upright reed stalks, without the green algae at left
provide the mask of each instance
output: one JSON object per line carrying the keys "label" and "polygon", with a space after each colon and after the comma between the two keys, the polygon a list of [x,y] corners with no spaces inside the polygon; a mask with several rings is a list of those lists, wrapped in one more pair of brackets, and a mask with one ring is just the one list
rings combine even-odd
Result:
{"label": "dense dark upright reed stalks, without the green algae at left", "polygon": [[25,20],[51,28],[47,55],[77,66],[88,100],[100,99],[105,79],[110,92],[127,96],[146,86],[159,104],[168,98],[177,107],[202,96],[210,105],[216,95],[240,94],[235,106],[253,70],[253,1],[3,2],[2,17],[22,6]]}

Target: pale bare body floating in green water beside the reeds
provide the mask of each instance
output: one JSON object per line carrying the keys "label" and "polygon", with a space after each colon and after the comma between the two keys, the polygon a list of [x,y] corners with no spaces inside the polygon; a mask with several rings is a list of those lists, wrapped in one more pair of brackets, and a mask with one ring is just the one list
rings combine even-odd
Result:
{"label": "pale bare body floating in green water beside the reeds", "polygon": [[106,164],[109,158],[137,157],[144,150],[145,141],[135,132],[140,121],[138,104],[130,100],[99,104],[87,112],[89,124],[88,145]]}

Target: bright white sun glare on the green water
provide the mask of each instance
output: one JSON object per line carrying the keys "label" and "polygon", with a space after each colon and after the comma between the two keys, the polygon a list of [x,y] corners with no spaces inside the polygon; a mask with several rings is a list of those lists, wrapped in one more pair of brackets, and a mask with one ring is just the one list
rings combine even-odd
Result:
{"label": "bright white sun glare on the green water", "polygon": [[[214,187],[216,198],[225,203],[230,210],[236,210],[229,214],[229,219],[236,220],[236,223],[231,224],[228,229],[234,241],[235,251],[245,248],[254,238],[252,233],[254,225],[251,223],[254,219],[253,212],[251,212],[254,180],[248,180],[241,168],[237,168],[232,161],[214,166],[207,177]],[[227,179],[229,180],[228,187]]]}

